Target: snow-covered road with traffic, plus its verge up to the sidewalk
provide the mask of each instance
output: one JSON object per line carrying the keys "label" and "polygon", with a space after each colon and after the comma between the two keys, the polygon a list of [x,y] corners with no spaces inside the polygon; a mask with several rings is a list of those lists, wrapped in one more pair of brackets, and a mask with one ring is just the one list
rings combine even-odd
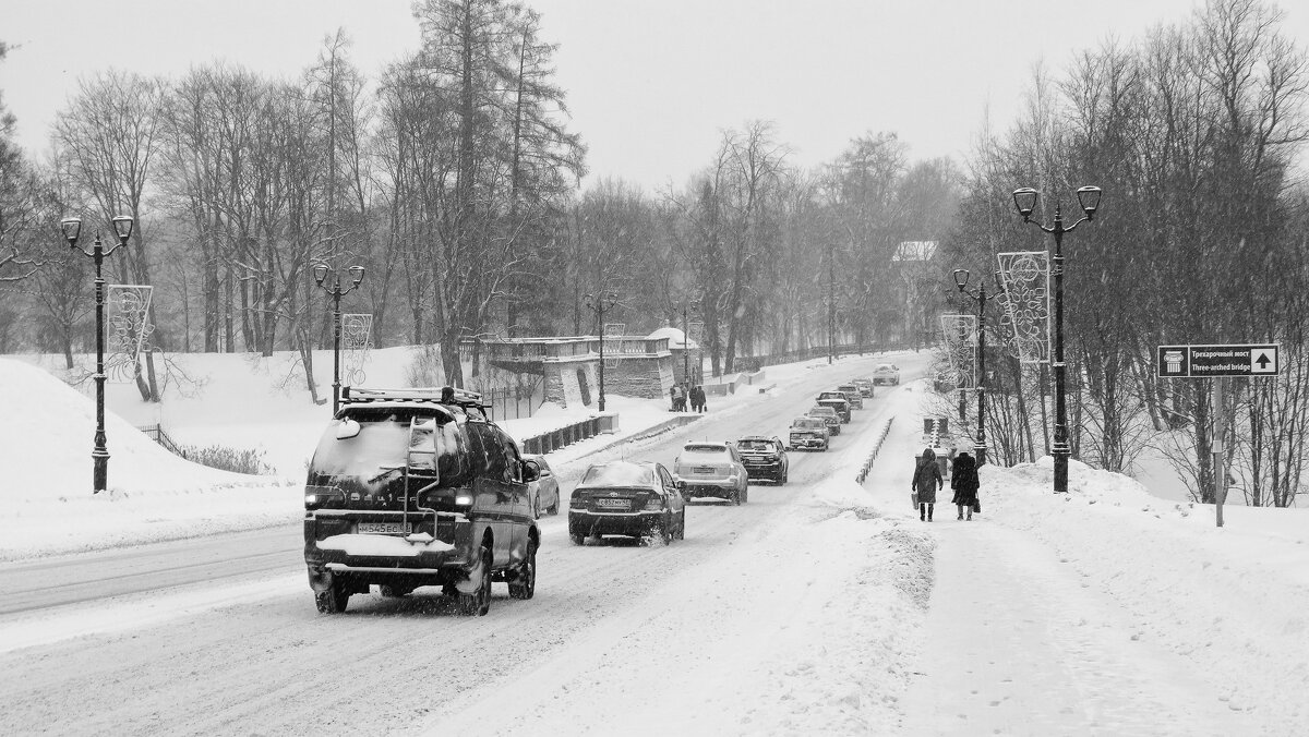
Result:
{"label": "snow-covered road with traffic, plus its verge up to the sidewalk", "polygon": [[[670,462],[687,439],[780,435],[817,389],[870,363],[816,368],[606,454]],[[692,505],[687,539],[666,548],[575,547],[563,516],[543,520],[537,597],[497,586],[486,618],[421,592],[356,596],[347,614],[323,617],[295,563],[102,601],[84,590],[81,603],[4,615],[21,644],[0,648],[0,733],[863,732],[878,715],[888,725],[882,702],[906,675],[868,670],[885,670],[878,653],[903,649],[912,630],[868,630],[856,613],[925,603],[906,593],[923,571],[902,562],[929,556],[903,555],[915,539],[872,511],[816,503],[867,453],[882,411],[878,398],[859,412],[831,453],[793,454],[785,487],[755,486],[744,507]],[[297,548],[298,530],[285,533]],[[175,564],[187,542],[174,545]],[[240,558],[251,543],[190,550]]]}

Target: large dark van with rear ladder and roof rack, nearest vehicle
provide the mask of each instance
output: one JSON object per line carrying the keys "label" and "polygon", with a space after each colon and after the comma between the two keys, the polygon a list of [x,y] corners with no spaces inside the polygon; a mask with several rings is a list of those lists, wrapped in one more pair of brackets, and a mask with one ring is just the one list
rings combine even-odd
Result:
{"label": "large dark van with rear ladder and roof rack, nearest vehicle", "polygon": [[461,614],[491,607],[491,583],[531,598],[541,531],[528,484],[538,466],[482,397],[347,387],[305,482],[305,564],[322,613],[372,584],[384,596],[437,585]]}

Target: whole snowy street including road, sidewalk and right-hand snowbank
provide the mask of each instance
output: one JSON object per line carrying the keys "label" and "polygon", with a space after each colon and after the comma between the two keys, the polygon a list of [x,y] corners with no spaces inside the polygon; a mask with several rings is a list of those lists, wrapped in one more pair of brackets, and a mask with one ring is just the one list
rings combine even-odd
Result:
{"label": "whole snowy street including road, sidewalk and right-hand snowbank", "polygon": [[[925,355],[897,360],[924,370]],[[873,363],[780,373],[767,395],[556,469],[571,490],[590,462],[781,435]],[[920,522],[923,386],[878,387],[831,452],[791,453],[788,486],[692,504],[669,547],[577,547],[565,514],[542,518],[535,598],[497,584],[484,618],[435,589],[321,615],[298,525],[0,564],[0,733],[1296,733],[1302,707],[1266,686],[1309,679],[1302,528],[1246,537],[1263,511],[1240,511],[1215,535],[1200,508],[1084,467],[1054,499],[1039,465],[984,469],[971,522],[949,490]],[[1178,573],[1187,547],[1223,573]],[[1250,601],[1221,592],[1268,555],[1282,590],[1253,627]]]}

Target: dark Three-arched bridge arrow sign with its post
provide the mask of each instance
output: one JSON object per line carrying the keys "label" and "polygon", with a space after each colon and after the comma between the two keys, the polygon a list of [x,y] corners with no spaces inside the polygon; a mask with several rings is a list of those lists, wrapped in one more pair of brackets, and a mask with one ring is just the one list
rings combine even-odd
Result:
{"label": "dark Three-arched bridge arrow sign with its post", "polygon": [[1213,412],[1213,512],[1223,526],[1223,503],[1227,501],[1227,414],[1223,411],[1223,389],[1228,376],[1276,376],[1282,370],[1278,346],[1274,343],[1240,343],[1225,346],[1160,346],[1155,361],[1160,378],[1212,378],[1211,412]]}

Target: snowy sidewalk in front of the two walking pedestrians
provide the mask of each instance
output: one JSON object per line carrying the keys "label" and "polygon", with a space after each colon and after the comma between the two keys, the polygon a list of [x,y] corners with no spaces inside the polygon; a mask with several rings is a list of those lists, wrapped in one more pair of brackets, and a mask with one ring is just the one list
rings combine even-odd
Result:
{"label": "snowy sidewalk in front of the two walking pedestrians", "polygon": [[[946,494],[949,490],[946,488]],[[1189,664],[1028,535],[937,509],[907,734],[1237,734]]]}

